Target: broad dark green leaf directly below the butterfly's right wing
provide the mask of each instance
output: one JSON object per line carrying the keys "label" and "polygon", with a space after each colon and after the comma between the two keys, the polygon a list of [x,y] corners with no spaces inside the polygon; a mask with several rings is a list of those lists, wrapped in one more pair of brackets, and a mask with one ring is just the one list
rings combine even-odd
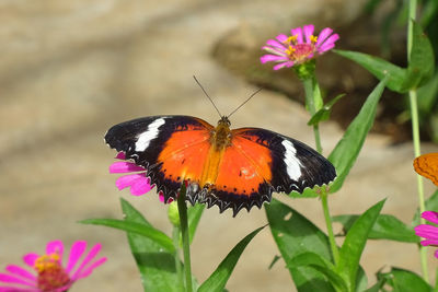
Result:
{"label": "broad dark green leaf directly below the butterfly's right wing", "polygon": [[[273,199],[265,205],[270,232],[286,265],[292,265],[296,256],[314,253],[332,261],[327,236],[307,218],[289,206]],[[334,291],[327,278],[311,267],[289,268],[299,292]]]}

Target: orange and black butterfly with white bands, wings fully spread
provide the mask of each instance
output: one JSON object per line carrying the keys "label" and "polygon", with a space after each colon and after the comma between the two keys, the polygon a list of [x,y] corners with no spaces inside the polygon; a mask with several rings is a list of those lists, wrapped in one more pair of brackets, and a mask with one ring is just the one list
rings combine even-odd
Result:
{"label": "orange and black butterfly with white bands, wings fully spread", "polygon": [[232,208],[233,215],[270,201],[272,192],[302,192],[328,185],[334,166],[316,151],[261,128],[230,129],[191,116],[151,116],[113,126],[106,143],[147,170],[164,201],[175,199],[183,182],[186,199]]}

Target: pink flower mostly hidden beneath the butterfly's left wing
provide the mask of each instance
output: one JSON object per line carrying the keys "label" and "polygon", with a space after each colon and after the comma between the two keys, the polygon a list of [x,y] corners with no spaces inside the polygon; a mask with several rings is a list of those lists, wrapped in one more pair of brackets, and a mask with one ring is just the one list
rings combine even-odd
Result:
{"label": "pink flower mostly hidden beneath the butterfly's left wing", "polygon": [[[138,166],[134,162],[126,161],[125,153],[119,152],[116,159],[122,160],[110,165],[111,174],[127,173],[116,180],[116,187],[124,189],[129,187],[130,194],[141,196],[149,192],[153,186],[150,185],[150,178],[146,175],[146,168]],[[159,194],[160,201],[164,202],[163,194]]]}

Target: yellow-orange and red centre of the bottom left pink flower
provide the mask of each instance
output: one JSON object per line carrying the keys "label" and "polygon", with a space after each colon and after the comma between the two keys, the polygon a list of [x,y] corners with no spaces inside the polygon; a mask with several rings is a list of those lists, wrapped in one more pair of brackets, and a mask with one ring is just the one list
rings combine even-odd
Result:
{"label": "yellow-orange and red centre of the bottom left pink flower", "polygon": [[34,269],[38,273],[37,287],[45,292],[66,285],[70,278],[62,268],[57,253],[43,255],[35,260]]}

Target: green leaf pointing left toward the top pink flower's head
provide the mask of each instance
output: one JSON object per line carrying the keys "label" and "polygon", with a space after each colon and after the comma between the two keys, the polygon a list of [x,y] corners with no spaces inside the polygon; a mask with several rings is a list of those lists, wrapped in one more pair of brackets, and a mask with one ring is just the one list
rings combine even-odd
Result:
{"label": "green leaf pointing left toward the top pink flower's head", "polygon": [[387,77],[387,87],[392,91],[405,93],[410,87],[414,86],[414,83],[407,80],[406,69],[395,66],[387,60],[351,50],[334,49],[334,51],[357,62],[379,80],[383,80]]}

